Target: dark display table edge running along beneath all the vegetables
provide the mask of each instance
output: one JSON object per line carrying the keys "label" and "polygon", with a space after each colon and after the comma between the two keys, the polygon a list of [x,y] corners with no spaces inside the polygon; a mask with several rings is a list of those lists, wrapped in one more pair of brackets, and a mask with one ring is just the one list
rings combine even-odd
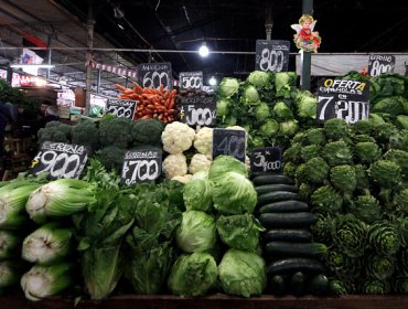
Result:
{"label": "dark display table edge running along beneath all the vegetables", "polygon": [[[61,297],[33,302],[22,296],[0,296],[0,308],[4,309],[65,309],[74,308],[74,301]],[[254,298],[228,297],[214,295],[203,298],[180,298],[175,296],[115,296],[103,301],[82,300],[75,307],[109,308],[109,309],[407,309],[408,296],[342,296],[342,297],[273,297]]]}

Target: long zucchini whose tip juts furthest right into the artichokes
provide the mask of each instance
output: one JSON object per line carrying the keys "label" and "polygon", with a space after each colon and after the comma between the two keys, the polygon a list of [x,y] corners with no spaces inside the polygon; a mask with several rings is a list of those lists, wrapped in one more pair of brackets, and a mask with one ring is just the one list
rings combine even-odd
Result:
{"label": "long zucchini whose tip juts furthest right into the artichokes", "polygon": [[322,256],[328,247],[322,243],[289,243],[269,242],[265,246],[266,252],[271,256]]}

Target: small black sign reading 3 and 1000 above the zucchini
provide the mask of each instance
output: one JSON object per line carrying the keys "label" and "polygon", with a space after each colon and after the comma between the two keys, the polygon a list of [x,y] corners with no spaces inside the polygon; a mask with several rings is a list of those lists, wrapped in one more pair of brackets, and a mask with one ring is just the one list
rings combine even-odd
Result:
{"label": "small black sign reading 3 and 1000 above the zucchini", "polygon": [[250,153],[251,172],[279,171],[282,167],[282,154],[279,147],[256,148]]}

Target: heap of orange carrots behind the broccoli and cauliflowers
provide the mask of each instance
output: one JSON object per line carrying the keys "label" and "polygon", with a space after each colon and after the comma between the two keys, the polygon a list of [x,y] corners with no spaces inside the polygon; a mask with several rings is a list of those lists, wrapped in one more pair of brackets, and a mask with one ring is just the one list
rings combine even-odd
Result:
{"label": "heap of orange carrots behind the broccoli and cauliflowers", "polygon": [[176,109],[174,108],[176,89],[164,92],[163,85],[160,85],[158,89],[142,88],[135,82],[133,88],[127,88],[119,84],[116,84],[116,87],[122,92],[119,95],[120,99],[138,102],[133,115],[135,120],[157,118],[164,124],[174,120],[176,116]]}

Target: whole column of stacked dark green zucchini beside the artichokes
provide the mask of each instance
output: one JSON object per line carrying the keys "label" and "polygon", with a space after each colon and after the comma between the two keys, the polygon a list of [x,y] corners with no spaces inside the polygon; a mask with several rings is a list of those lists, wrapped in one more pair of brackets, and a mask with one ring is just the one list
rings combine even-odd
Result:
{"label": "whole column of stacked dark green zucchini beside the artichokes", "polygon": [[269,292],[326,295],[329,279],[320,258],[328,248],[313,242],[310,226],[318,217],[301,201],[294,180],[283,174],[260,174],[253,182],[258,193],[258,219],[267,230],[261,244]]}

